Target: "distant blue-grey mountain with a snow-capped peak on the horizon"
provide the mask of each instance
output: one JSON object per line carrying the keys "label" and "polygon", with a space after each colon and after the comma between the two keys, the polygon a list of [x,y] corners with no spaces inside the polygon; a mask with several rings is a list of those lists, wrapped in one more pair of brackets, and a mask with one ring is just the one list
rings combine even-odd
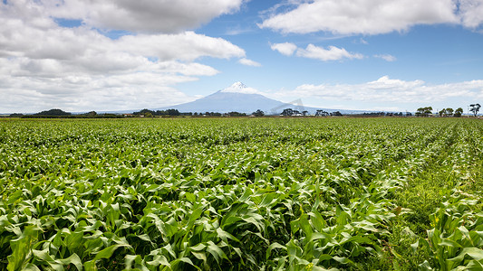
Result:
{"label": "distant blue-grey mountain with a snow-capped peak on the horizon", "polygon": [[338,110],[328,108],[303,107],[300,100],[294,103],[283,103],[281,101],[266,98],[259,94],[256,89],[248,88],[241,82],[236,82],[227,89],[218,90],[204,98],[171,107],[161,107],[155,110],[166,110],[169,108],[178,109],[179,112],[240,112],[252,113],[261,109],[266,115],[278,115],[285,108],[293,108],[300,112],[306,110],[314,114],[316,110],[322,109],[327,112],[340,111],[342,114],[353,114],[351,110]]}

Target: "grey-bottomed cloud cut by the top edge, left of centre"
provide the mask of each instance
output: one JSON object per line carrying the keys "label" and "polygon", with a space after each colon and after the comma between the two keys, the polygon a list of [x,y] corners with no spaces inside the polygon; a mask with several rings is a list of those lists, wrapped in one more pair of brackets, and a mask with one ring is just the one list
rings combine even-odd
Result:
{"label": "grey-bottomed cloud cut by the top edge, left of centre", "polygon": [[243,0],[44,0],[55,17],[86,25],[132,32],[177,33],[221,14],[237,12]]}

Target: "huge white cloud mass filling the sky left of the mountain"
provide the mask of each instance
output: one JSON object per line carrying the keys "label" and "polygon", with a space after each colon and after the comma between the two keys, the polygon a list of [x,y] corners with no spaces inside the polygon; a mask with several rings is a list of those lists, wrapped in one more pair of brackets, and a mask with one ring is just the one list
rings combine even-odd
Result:
{"label": "huge white cloud mass filling the sky left of the mountain", "polygon": [[[161,3],[168,2],[188,5],[188,1]],[[226,5],[225,12],[230,12],[236,8],[235,2],[218,4]],[[245,57],[245,51],[231,42],[191,31],[138,33],[113,40],[85,23],[90,19],[79,27],[66,28],[52,17],[54,4],[58,8],[79,5],[80,14],[83,9],[95,10],[86,3],[0,2],[0,112],[35,112],[51,107],[82,111],[169,106],[194,99],[175,89],[176,84],[218,73],[198,63],[198,59]],[[106,5],[110,10],[112,3],[92,5]],[[135,12],[127,1],[119,3],[117,8]],[[97,7],[100,13],[105,12]],[[192,13],[198,16],[198,11]],[[179,25],[171,30],[179,29]]]}

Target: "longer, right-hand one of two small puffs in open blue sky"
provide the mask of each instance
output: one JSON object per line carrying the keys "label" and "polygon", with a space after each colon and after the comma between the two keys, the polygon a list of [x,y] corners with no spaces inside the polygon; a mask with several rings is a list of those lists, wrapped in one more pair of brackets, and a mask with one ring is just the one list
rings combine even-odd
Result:
{"label": "longer, right-hand one of two small puffs in open blue sky", "polygon": [[315,59],[319,61],[340,61],[343,59],[362,59],[364,56],[360,53],[351,53],[343,48],[329,46],[328,49],[315,46],[314,44],[307,45],[305,49],[297,49],[297,56]]}

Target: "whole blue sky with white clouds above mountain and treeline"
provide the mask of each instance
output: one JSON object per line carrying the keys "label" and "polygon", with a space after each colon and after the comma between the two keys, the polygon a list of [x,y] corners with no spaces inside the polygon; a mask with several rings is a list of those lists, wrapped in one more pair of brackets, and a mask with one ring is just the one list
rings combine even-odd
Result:
{"label": "whole blue sky with white clouds above mountain and treeline", "polygon": [[241,81],[304,106],[483,104],[483,0],[2,0],[0,113],[169,107]]}

